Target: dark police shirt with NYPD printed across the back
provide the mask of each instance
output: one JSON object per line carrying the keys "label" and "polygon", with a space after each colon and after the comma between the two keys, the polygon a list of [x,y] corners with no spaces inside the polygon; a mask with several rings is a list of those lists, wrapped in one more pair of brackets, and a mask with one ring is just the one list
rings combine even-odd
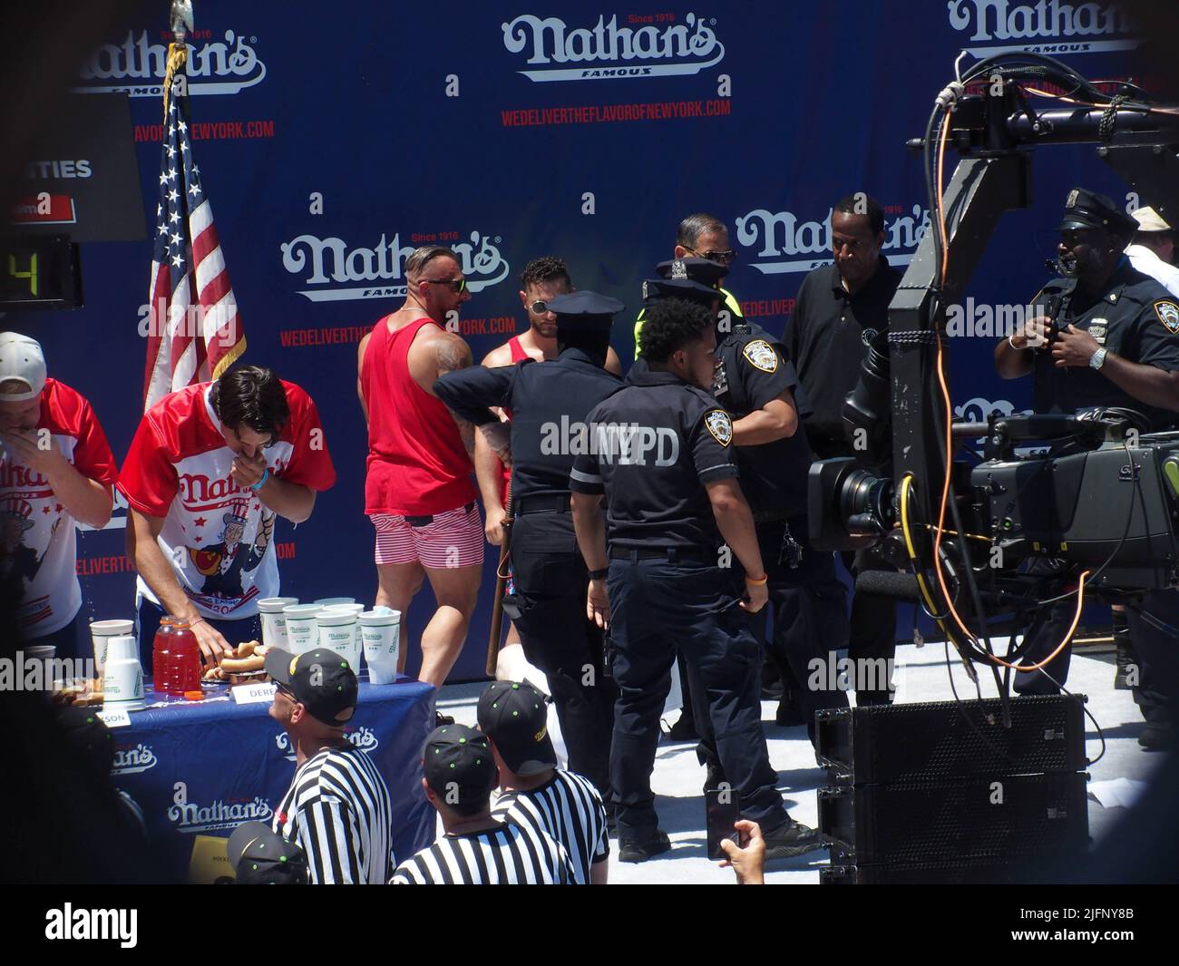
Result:
{"label": "dark police shirt with NYPD printed across the back", "polygon": [[569,488],[607,495],[612,547],[720,545],[704,485],[738,469],[732,420],[716,399],[672,373],[647,372],[597,406],[590,429]]}

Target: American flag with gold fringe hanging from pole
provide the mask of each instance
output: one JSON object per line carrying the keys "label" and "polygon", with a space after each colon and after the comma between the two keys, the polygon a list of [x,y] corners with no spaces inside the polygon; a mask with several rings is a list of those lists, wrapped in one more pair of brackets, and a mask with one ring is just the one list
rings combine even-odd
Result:
{"label": "American flag with gold fringe hanging from pole", "polygon": [[170,99],[160,151],[144,412],[169,393],[216,379],[245,351],[213,210],[192,159],[185,101]]}

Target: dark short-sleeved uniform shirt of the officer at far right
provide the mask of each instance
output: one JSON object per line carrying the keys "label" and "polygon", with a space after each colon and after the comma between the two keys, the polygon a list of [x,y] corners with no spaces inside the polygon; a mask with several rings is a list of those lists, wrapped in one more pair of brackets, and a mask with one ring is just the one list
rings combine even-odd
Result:
{"label": "dark short-sleeved uniform shirt of the officer at far right", "polygon": [[[1033,302],[1042,309],[1054,297],[1063,300],[1058,318],[1061,329],[1071,324],[1087,331],[1128,362],[1179,372],[1179,302],[1127,259],[1122,259],[1096,300],[1085,295],[1075,278],[1054,278]],[[1033,380],[1038,413],[1121,406],[1145,414],[1154,429],[1179,422],[1179,414],[1134,399],[1099,369],[1058,367],[1047,348],[1034,353]]]}

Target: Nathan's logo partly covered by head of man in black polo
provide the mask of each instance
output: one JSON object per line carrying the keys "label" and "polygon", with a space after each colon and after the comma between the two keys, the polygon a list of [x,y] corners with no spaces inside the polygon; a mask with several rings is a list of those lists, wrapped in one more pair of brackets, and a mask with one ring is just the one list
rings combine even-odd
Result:
{"label": "Nathan's logo partly covered by head of man in black polo", "polygon": [[[915,204],[908,213],[900,206],[887,208],[883,254],[889,264],[907,265],[917,244],[929,230],[929,211]],[[889,212],[893,212],[890,217]],[[804,222],[792,211],[755,209],[737,218],[737,241],[753,248],[753,268],[764,275],[810,271],[834,261],[831,254],[831,209],[822,222]]]}

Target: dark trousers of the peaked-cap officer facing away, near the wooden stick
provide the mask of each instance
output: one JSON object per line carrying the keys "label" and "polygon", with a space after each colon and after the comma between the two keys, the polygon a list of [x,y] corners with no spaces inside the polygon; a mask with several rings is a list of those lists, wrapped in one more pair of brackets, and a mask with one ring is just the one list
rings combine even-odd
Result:
{"label": "dark trousers of the peaked-cap officer facing away, near the wooden stick", "polygon": [[545,672],[561,722],[569,770],[585,775],[608,801],[610,740],[618,689],[606,671],[601,631],[586,619],[588,574],[573,518],[518,517],[512,532],[514,617],[525,657]]}

